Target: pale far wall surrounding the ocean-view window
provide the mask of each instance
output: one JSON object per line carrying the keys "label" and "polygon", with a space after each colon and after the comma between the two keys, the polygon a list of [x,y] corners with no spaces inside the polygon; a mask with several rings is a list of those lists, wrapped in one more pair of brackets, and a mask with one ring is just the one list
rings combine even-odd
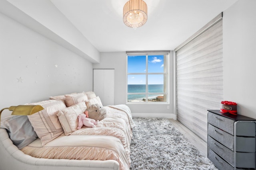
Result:
{"label": "pale far wall surrounding the ocean-view window", "polygon": [[[170,53],[170,102],[169,104],[127,104],[133,116],[176,118],[173,113],[173,52]],[[114,104],[126,104],[126,52],[100,53],[100,63],[93,68],[115,69]],[[169,106],[169,109],[167,109]]]}

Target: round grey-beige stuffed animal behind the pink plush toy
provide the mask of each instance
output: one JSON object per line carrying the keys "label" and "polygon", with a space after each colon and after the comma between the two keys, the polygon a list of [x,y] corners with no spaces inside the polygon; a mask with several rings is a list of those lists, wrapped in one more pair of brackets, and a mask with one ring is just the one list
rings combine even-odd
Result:
{"label": "round grey-beige stuffed animal behind the pink plush toy", "polygon": [[106,108],[100,104],[92,104],[87,108],[88,117],[94,120],[102,120],[106,117],[107,111]]}

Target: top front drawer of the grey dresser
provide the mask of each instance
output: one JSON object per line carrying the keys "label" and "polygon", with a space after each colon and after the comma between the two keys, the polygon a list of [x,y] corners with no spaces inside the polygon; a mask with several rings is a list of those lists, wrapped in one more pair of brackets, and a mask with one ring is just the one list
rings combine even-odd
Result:
{"label": "top front drawer of the grey dresser", "polygon": [[234,135],[234,120],[208,112],[208,123]]}

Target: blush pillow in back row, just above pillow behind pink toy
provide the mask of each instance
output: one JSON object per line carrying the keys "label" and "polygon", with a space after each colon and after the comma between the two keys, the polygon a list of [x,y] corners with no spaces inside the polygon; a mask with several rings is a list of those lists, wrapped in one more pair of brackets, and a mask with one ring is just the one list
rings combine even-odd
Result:
{"label": "blush pillow in back row, just above pillow behind pink toy", "polygon": [[88,98],[84,93],[65,95],[65,102],[67,107],[73,106],[80,102],[85,102],[86,100],[88,100]]}

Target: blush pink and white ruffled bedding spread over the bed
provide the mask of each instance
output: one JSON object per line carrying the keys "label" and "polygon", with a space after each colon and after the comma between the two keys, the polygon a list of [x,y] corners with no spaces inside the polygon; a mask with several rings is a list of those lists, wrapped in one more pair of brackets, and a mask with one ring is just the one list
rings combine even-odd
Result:
{"label": "blush pink and white ruffled bedding spread over the bed", "polygon": [[22,152],[36,158],[116,160],[119,170],[130,169],[130,142],[132,121],[130,109],[126,105],[104,106],[107,115],[96,127],[82,127],[70,135],[62,133],[44,144],[36,139]]}

